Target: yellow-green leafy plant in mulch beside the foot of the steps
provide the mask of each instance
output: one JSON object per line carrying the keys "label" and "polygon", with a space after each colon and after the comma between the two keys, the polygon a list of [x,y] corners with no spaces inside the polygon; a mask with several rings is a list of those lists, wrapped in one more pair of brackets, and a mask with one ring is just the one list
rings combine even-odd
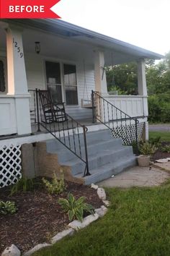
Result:
{"label": "yellow-green leafy plant in mulch beside the foot of the steps", "polygon": [[58,179],[58,176],[54,173],[51,182],[49,182],[45,178],[42,178],[42,182],[45,184],[45,188],[48,190],[50,194],[61,194],[64,191],[64,189],[66,189],[62,171],[61,179]]}

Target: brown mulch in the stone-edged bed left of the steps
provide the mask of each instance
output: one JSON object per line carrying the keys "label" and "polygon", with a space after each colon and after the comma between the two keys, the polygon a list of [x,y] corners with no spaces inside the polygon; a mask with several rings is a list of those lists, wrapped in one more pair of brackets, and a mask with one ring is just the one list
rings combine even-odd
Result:
{"label": "brown mulch in the stone-edged bed left of the steps", "polygon": [[66,184],[67,189],[61,195],[49,195],[42,187],[32,192],[17,192],[13,196],[9,196],[6,188],[0,189],[0,200],[14,201],[18,208],[14,215],[0,215],[0,254],[11,244],[26,252],[36,244],[48,242],[59,231],[66,229],[68,216],[63,213],[58,199],[67,198],[68,192],[76,198],[86,197],[86,202],[94,208],[103,205],[95,189],[71,182]]}

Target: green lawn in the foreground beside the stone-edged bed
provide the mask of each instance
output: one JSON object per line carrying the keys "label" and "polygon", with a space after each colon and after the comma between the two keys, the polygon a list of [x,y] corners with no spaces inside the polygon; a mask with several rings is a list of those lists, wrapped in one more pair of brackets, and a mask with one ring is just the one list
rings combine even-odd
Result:
{"label": "green lawn in the foreground beside the stone-edged bed", "polygon": [[111,205],[104,218],[34,255],[170,255],[170,181],[107,194]]}

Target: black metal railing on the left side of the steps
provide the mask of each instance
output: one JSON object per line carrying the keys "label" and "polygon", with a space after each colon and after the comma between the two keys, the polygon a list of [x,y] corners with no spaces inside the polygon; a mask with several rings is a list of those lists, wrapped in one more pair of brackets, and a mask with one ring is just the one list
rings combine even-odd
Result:
{"label": "black metal railing on the left side of the steps", "polygon": [[[32,105],[35,106],[35,124],[37,124],[37,132],[41,129],[49,132],[56,140],[61,142],[68,150],[76,155],[81,161],[84,162],[84,176],[89,176],[89,162],[86,144],[87,128],[65,113],[66,121],[53,121],[45,122],[44,112],[42,111],[42,104],[40,101],[39,90],[30,90],[33,92]],[[33,101],[34,100],[34,101]],[[35,103],[33,103],[35,102]],[[33,107],[32,107],[33,111]]]}

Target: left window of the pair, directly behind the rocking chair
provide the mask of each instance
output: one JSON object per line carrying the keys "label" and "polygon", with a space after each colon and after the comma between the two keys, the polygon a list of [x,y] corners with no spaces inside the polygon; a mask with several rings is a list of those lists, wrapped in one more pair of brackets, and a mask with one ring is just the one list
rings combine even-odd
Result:
{"label": "left window of the pair, directly behind the rocking chair", "polygon": [[50,90],[53,102],[58,104],[62,102],[61,93],[61,67],[57,62],[45,62],[47,87]]}

